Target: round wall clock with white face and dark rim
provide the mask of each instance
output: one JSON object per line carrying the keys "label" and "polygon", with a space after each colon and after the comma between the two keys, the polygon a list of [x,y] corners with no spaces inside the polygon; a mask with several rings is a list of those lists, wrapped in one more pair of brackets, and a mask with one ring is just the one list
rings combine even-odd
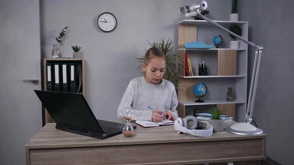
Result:
{"label": "round wall clock with white face and dark rim", "polygon": [[98,27],[104,32],[113,31],[117,26],[117,18],[110,12],[100,14],[97,21]]}

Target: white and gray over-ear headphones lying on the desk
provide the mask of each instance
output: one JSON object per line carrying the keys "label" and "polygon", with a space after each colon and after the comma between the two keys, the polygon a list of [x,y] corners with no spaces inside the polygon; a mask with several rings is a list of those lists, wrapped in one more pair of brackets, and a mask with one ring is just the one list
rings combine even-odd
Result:
{"label": "white and gray over-ear headphones lying on the desk", "polygon": [[[204,129],[196,129],[197,125],[203,125]],[[177,133],[188,133],[193,136],[208,137],[212,135],[213,127],[210,124],[198,122],[195,116],[188,115],[185,118],[178,117],[174,121],[174,130]]]}

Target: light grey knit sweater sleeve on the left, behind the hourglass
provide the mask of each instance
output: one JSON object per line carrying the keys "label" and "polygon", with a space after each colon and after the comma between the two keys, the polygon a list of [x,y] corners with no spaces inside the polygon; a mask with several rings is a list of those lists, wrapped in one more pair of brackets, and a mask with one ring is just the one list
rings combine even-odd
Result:
{"label": "light grey knit sweater sleeve on the left, behind the hourglass", "polygon": [[[136,99],[136,83],[130,82],[121,100],[120,106],[118,108],[118,118],[124,119],[123,111],[124,109],[133,109],[133,104]],[[151,121],[152,112],[150,111],[139,111],[134,109],[135,115],[132,120],[149,120]]]}

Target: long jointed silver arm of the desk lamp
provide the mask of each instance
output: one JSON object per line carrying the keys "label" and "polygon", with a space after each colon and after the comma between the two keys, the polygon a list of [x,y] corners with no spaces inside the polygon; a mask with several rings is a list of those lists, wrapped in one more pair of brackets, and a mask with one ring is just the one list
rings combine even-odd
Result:
{"label": "long jointed silver arm of the desk lamp", "polygon": [[250,124],[251,121],[252,121],[253,107],[254,107],[255,95],[256,95],[256,86],[257,86],[259,67],[260,67],[260,59],[261,59],[263,47],[255,45],[254,43],[246,40],[245,38],[231,32],[230,30],[228,30],[228,29],[224,28],[223,26],[217,24],[213,20],[205,17],[204,15],[201,14],[200,10],[194,11],[194,13],[191,12],[190,14],[193,14],[195,16],[198,16],[198,17],[206,20],[207,22],[221,28],[222,30],[228,32],[229,34],[233,35],[234,37],[239,38],[240,40],[247,43],[248,45],[251,45],[251,46],[255,47],[255,60],[254,60],[254,66],[253,66],[253,71],[252,71],[252,79],[251,79],[251,84],[250,84],[248,105],[247,105],[246,116],[245,116],[245,119],[246,119],[247,123]]}

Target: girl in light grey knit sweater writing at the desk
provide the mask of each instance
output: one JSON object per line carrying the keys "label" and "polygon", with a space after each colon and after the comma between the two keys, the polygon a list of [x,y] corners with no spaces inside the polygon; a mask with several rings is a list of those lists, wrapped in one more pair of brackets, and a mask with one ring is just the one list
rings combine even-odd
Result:
{"label": "girl in light grey knit sweater writing at the desk", "polygon": [[[144,77],[133,79],[118,108],[118,117],[123,119],[124,109],[134,109],[132,120],[161,122],[164,117],[175,120],[178,105],[174,85],[162,79],[165,72],[165,55],[157,48],[147,50],[142,64]],[[152,110],[152,109],[153,110]]]}

